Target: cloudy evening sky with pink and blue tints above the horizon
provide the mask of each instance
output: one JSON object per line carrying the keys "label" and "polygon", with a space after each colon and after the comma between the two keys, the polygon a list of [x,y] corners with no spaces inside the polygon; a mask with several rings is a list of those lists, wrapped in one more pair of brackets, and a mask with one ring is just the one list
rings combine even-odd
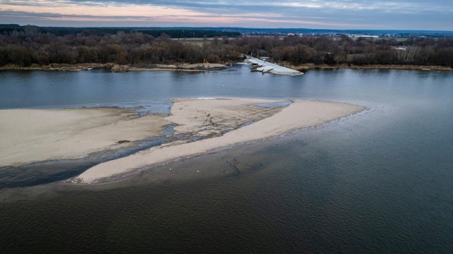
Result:
{"label": "cloudy evening sky with pink and blue tints above the horizon", "polygon": [[0,0],[0,23],[453,30],[452,0]]}

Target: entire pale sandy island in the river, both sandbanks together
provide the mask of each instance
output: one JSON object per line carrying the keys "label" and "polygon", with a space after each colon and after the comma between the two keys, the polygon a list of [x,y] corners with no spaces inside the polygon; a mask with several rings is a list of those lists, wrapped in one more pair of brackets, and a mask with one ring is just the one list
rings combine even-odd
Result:
{"label": "entire pale sandy island in the river, both sandbanks together", "polygon": [[365,107],[316,101],[295,101],[280,107],[258,107],[270,99],[173,99],[171,116],[139,116],[128,109],[8,109],[0,110],[0,167],[32,162],[75,159],[92,152],[134,145],[161,136],[176,124],[178,138],[134,155],[104,162],[72,179],[96,183],[163,164],[173,159],[222,147],[270,138],[289,131],[355,114]]}

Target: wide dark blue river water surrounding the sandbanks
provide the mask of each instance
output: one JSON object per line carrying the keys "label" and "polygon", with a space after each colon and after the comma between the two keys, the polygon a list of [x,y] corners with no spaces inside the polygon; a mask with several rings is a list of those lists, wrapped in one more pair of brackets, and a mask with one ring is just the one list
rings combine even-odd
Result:
{"label": "wide dark blue river water surrounding the sandbanks", "polygon": [[[453,251],[452,72],[291,77],[241,64],[210,73],[0,72],[0,109],[143,104],[161,111],[172,97],[216,96],[368,109],[149,169],[115,188],[0,186],[0,197],[22,199],[0,199],[0,252]],[[183,176],[164,177],[168,167]]]}

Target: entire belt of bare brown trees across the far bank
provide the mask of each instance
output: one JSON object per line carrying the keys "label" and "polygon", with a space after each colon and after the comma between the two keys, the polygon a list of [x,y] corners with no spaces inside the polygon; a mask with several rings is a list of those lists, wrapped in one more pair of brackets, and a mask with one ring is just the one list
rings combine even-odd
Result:
{"label": "entire belt of bare brown trees across the far bank", "polygon": [[[411,37],[352,39],[339,37],[214,37],[183,43],[165,32],[112,30],[104,35],[56,35],[38,27],[11,28],[0,34],[0,66],[50,63],[212,63],[239,61],[241,54],[270,56],[292,65],[314,64],[415,64],[453,67],[453,38]],[[5,28],[6,29],[6,28]],[[8,28],[9,29],[9,28]],[[189,32],[191,30],[188,30]],[[207,32],[207,31],[202,31]],[[206,36],[207,37],[207,36]],[[188,40],[184,40],[187,42]]]}

